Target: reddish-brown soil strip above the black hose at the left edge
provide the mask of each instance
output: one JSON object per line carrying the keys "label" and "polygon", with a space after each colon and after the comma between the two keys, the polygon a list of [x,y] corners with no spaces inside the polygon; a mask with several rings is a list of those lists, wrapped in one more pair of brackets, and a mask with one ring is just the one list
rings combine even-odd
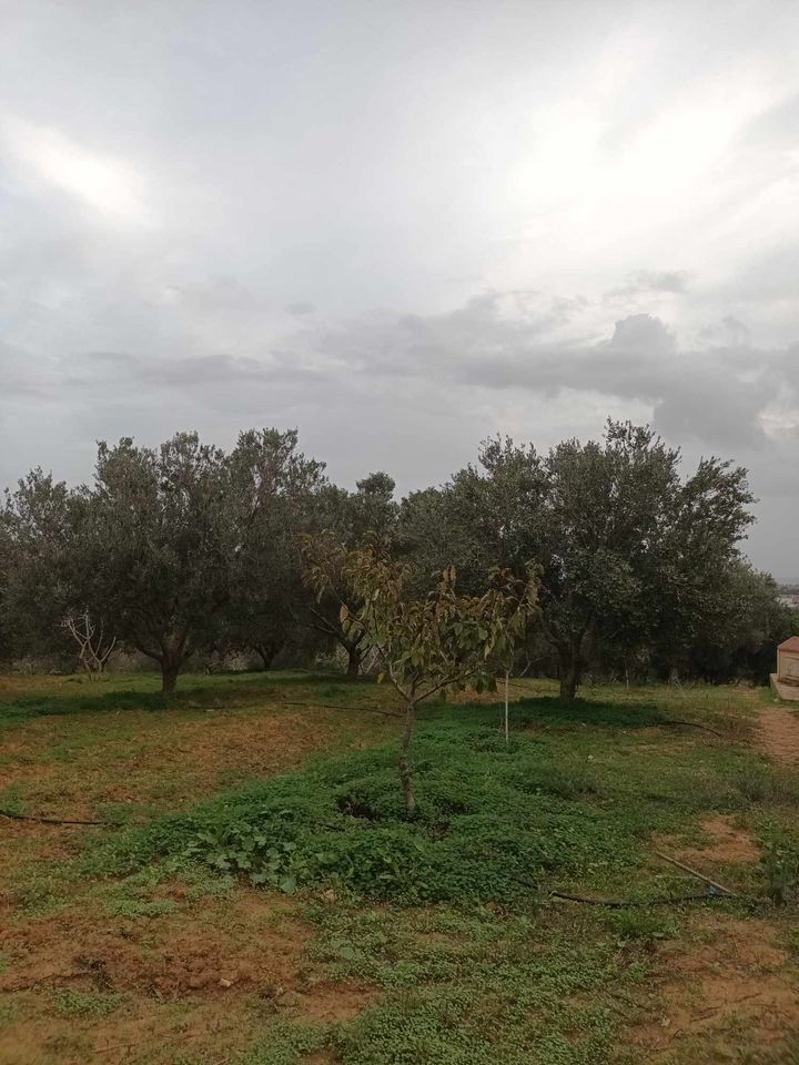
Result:
{"label": "reddish-brown soil strip above the black hose at the left edge", "polygon": [[[37,812],[55,816],[90,816],[100,802],[152,803],[158,795],[174,809],[231,774],[269,775],[296,765],[312,751],[330,748],[356,721],[347,711],[313,706],[303,720],[277,702],[262,710],[208,711],[200,719],[173,714],[125,711],[122,734],[113,728],[118,722],[97,717],[40,718],[0,733],[3,785],[19,787]],[[371,716],[363,742],[380,729],[387,733],[392,723]],[[354,744],[360,746],[357,739]],[[52,749],[58,757],[48,757]]]}

